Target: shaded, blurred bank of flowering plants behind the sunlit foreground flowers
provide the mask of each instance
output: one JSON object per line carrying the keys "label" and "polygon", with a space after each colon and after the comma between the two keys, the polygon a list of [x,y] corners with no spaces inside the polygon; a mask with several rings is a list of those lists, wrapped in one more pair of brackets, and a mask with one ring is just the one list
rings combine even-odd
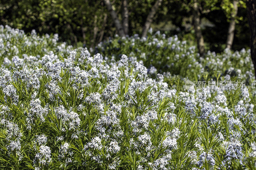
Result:
{"label": "shaded, blurred bank of flowering plants behind the sunlit foreground flowers", "polygon": [[190,80],[209,81],[216,80],[217,75],[229,74],[240,81],[253,81],[250,50],[242,49],[233,53],[226,49],[220,54],[208,51],[202,58],[189,42],[180,41],[177,35],[166,37],[159,31],[153,34],[150,30],[147,38],[140,38],[137,34],[127,38],[117,36],[101,42],[91,51],[113,59],[119,59],[122,54],[137,57],[151,75],[169,72]]}

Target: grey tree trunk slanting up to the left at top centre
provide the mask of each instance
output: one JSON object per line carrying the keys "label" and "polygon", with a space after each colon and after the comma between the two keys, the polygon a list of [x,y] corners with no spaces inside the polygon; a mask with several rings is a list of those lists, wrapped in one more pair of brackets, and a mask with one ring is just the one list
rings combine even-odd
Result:
{"label": "grey tree trunk slanting up to the left at top centre", "polygon": [[119,36],[124,37],[125,36],[124,28],[117,17],[116,11],[114,11],[114,9],[112,8],[112,4],[110,3],[109,0],[103,0],[103,2],[107,6],[107,9],[114,21],[117,33],[119,34]]}

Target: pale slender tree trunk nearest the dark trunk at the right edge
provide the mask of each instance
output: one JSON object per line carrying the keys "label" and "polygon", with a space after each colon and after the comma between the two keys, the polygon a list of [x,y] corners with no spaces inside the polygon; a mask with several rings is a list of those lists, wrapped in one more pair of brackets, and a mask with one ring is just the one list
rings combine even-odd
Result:
{"label": "pale slender tree trunk nearest the dark trunk at the right edge", "polygon": [[235,27],[236,27],[236,15],[237,15],[237,10],[238,10],[238,0],[233,0],[233,9],[231,12],[231,18],[230,18],[230,23],[228,27],[228,38],[226,42],[226,48],[231,49],[233,40],[234,40],[234,34],[235,34]]}

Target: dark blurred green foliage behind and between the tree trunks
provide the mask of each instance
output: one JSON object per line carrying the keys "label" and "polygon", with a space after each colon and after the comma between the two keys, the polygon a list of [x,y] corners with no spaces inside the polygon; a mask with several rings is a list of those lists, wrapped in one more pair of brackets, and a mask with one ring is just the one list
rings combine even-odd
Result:
{"label": "dark blurred green foliage behind and between the tree trunks", "polygon": [[[121,18],[122,0],[111,0]],[[155,0],[129,0],[129,32],[141,34],[148,12]],[[192,12],[189,0],[163,0],[151,27],[166,36],[177,34],[182,40],[195,43]],[[226,47],[227,32],[232,11],[230,0],[201,0],[201,27],[205,49],[221,52]],[[246,8],[239,1],[232,49],[249,48],[249,25]],[[95,47],[100,41],[117,34],[102,0],[1,0],[0,24],[23,29],[29,33],[58,33],[60,41],[74,46]]]}

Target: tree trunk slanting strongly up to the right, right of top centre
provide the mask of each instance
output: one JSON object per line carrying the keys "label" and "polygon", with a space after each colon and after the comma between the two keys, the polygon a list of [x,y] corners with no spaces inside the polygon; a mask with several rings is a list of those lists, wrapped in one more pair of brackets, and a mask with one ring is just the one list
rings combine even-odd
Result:
{"label": "tree trunk slanting strongly up to the right, right of top centre", "polygon": [[156,3],[152,6],[151,11],[148,13],[145,25],[143,27],[142,30],[142,37],[146,37],[147,33],[148,33],[148,29],[151,25],[151,23],[153,22],[153,18],[156,14],[157,9],[159,8],[159,6],[161,5],[163,0],[156,0]]}

